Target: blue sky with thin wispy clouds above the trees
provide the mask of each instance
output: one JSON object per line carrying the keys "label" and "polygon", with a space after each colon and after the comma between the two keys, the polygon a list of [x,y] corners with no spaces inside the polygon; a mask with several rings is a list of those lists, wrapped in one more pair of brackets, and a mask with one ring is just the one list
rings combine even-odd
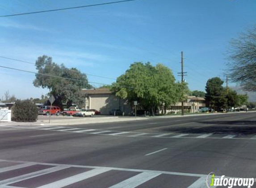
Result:
{"label": "blue sky with thin wispy clouds above the trees", "polygon": [[[0,0],[0,15],[111,0]],[[224,78],[229,41],[256,24],[255,0],[138,0],[121,4],[0,18],[0,56],[35,62],[48,55],[83,73],[117,78],[134,61],[163,63],[177,80],[184,52],[190,90]],[[0,65],[35,71],[0,58]],[[0,68],[0,97],[40,97],[34,74]],[[88,76],[90,82],[114,80]],[[94,84],[94,86],[100,86]]]}

